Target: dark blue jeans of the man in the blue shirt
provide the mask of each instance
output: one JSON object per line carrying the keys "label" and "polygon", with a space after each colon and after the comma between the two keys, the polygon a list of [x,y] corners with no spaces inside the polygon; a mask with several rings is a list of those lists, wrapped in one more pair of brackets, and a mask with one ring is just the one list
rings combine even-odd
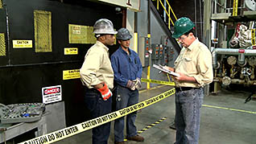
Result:
{"label": "dark blue jeans of the man in the blue shirt", "polygon": [[[117,86],[116,92],[116,110],[126,108],[130,105],[138,103],[138,89],[130,90],[120,85]],[[133,137],[137,134],[135,126],[136,112],[130,113],[126,116],[126,136],[127,138]],[[114,141],[123,142],[124,140],[124,117],[118,118],[114,121]]]}

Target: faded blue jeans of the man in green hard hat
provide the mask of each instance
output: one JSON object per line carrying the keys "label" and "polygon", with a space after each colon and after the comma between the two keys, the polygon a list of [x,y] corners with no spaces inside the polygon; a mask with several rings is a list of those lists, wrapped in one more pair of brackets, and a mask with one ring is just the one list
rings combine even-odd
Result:
{"label": "faded blue jeans of the man in green hard hat", "polygon": [[203,88],[175,93],[175,144],[198,144]]}

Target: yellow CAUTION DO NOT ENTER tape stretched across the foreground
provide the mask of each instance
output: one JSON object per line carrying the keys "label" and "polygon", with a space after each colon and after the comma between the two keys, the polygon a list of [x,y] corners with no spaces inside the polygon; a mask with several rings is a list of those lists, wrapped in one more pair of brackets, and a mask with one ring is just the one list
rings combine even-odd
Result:
{"label": "yellow CAUTION DO NOT ENTER tape stretched across the foreground", "polygon": [[109,121],[114,121],[115,119],[124,117],[127,114],[134,113],[138,109],[146,108],[149,105],[153,105],[156,102],[162,101],[163,99],[170,97],[174,93],[175,93],[175,88],[171,88],[170,90],[168,90],[164,93],[161,93],[161,94],[159,94],[155,97],[152,97],[146,101],[139,102],[138,104],[131,105],[127,108],[120,109],[113,113],[105,114],[104,116],[97,117],[97,118],[82,122],[77,125],[69,126],[62,130],[56,130],[52,133],[44,134],[42,136],[27,140],[25,142],[20,142],[19,144],[35,144],[35,143],[46,144],[46,143],[58,142],[64,138],[71,137],[72,135],[80,134],[86,130],[93,129],[94,127],[97,127],[98,125],[103,125]]}

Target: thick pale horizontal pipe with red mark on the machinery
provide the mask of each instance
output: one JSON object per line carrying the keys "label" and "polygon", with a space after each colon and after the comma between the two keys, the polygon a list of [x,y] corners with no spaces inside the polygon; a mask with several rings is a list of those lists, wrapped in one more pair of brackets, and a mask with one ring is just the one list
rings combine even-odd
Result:
{"label": "thick pale horizontal pipe with red mark on the machinery", "polygon": [[244,65],[246,63],[246,56],[256,56],[256,50],[252,49],[234,49],[234,48],[215,48],[212,52],[213,56],[213,68],[219,68],[219,64],[217,63],[217,54],[221,55],[237,55],[238,56],[238,64]]}

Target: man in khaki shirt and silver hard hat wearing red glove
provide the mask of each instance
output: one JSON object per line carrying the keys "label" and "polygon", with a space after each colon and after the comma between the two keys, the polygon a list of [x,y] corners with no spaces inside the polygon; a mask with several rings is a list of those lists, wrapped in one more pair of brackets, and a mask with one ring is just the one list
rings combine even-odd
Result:
{"label": "man in khaki shirt and silver hard hat wearing red glove", "polygon": [[[111,113],[114,72],[109,60],[109,48],[114,45],[113,23],[109,19],[99,19],[93,26],[97,42],[89,48],[85,62],[80,69],[81,81],[85,85],[85,105],[91,118]],[[110,134],[110,122],[93,128],[93,144],[107,144]]]}

